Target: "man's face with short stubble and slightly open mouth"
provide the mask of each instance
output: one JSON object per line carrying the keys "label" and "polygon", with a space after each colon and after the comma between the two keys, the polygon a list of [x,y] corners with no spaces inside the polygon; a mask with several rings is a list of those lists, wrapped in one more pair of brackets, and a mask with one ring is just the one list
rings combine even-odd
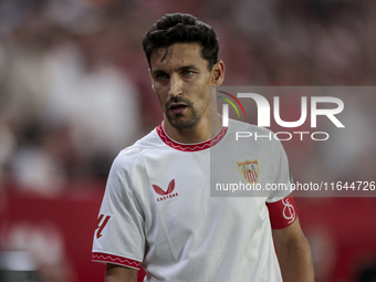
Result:
{"label": "man's face with short stubble and slightly open mouth", "polygon": [[192,128],[210,114],[211,75],[198,43],[177,43],[152,54],[153,87],[171,126]]}

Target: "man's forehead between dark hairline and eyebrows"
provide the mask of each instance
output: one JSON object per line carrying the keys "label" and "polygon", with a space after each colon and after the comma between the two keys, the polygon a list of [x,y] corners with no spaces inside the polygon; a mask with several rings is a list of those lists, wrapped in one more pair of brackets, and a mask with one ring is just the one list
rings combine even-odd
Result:
{"label": "man's forehead between dark hairline and eyebrows", "polygon": [[201,56],[199,43],[176,43],[168,48],[159,48],[153,52],[150,67],[179,67],[184,65],[207,66],[207,61]]}

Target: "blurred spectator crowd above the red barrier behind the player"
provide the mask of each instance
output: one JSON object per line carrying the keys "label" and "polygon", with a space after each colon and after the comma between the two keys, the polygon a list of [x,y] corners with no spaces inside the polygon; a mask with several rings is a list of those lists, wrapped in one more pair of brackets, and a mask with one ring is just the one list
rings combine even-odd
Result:
{"label": "blurred spectator crowd above the red barrier behind the player", "polygon": [[[116,154],[161,121],[140,42],[171,12],[217,30],[224,85],[376,83],[374,0],[0,0],[0,191],[104,188]],[[331,143],[284,144],[295,179],[372,180],[374,92],[343,94]],[[296,121],[300,100],[283,100]]]}

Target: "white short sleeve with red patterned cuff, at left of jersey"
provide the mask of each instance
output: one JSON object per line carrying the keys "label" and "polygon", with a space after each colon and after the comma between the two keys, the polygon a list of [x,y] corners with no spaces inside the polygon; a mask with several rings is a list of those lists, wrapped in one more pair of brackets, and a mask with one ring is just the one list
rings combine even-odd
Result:
{"label": "white short sleeve with red patterned cuff, at left of jersey", "polygon": [[92,260],[140,269],[144,217],[132,187],[132,164],[119,155],[111,168],[94,233]]}

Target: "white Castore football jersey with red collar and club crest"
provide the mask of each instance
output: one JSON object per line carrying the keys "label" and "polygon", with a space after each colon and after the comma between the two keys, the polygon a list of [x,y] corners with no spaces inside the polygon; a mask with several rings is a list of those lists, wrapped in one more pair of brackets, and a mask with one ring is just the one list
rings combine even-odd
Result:
{"label": "white Castore football jersey with red collar and club crest", "polygon": [[[282,281],[267,203],[290,192],[237,197],[224,182],[288,184],[288,158],[280,142],[237,140],[237,132],[270,134],[230,119],[211,140],[186,145],[160,125],[122,150],[108,176],[92,259],[144,268],[145,281]],[[276,213],[286,222],[279,228],[296,218],[289,201],[282,207]]]}

